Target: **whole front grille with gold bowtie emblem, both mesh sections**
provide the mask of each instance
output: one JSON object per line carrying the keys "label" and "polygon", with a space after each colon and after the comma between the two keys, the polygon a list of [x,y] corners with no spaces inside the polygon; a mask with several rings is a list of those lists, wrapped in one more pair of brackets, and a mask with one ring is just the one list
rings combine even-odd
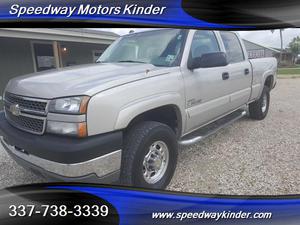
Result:
{"label": "whole front grille with gold bowtie emblem, both mesh sections", "polygon": [[[44,133],[47,100],[27,98],[6,92],[4,103],[5,115],[11,125],[33,134],[42,135]],[[18,108],[20,112],[12,113],[15,108]]]}

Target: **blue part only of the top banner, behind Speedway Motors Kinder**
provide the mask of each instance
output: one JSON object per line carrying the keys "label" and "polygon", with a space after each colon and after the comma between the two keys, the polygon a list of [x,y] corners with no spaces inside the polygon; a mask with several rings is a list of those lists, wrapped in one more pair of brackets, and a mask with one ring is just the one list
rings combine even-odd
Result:
{"label": "blue part only of the top banner, behind Speedway Motors Kinder", "polygon": [[193,18],[181,0],[164,1],[6,1],[1,3],[2,20],[63,19],[107,23],[166,25],[209,28],[238,28]]}

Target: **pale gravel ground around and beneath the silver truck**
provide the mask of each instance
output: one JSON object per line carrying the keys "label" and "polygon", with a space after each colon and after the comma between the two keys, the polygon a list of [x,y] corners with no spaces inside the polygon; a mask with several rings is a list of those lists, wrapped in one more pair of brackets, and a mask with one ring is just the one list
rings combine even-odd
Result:
{"label": "pale gravel ground around and beneath the silver truck", "polygon": [[[263,121],[241,119],[182,148],[169,190],[277,195],[300,193],[300,79],[279,80]],[[0,188],[45,182],[0,149]]]}

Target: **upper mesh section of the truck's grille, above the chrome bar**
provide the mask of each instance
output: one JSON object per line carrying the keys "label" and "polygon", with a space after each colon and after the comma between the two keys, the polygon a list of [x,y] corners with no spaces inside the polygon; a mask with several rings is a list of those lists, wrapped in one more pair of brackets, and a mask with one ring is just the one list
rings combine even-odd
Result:
{"label": "upper mesh section of the truck's grille, above the chrome bar", "polygon": [[4,98],[9,104],[18,104],[21,109],[42,113],[46,112],[47,101],[33,100],[7,92]]}

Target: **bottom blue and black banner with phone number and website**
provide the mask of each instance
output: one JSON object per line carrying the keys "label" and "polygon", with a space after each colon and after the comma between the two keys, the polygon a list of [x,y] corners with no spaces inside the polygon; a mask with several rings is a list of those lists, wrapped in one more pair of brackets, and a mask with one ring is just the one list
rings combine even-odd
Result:
{"label": "bottom blue and black banner with phone number and website", "polygon": [[300,196],[221,196],[41,184],[0,193],[1,224],[299,224]]}

